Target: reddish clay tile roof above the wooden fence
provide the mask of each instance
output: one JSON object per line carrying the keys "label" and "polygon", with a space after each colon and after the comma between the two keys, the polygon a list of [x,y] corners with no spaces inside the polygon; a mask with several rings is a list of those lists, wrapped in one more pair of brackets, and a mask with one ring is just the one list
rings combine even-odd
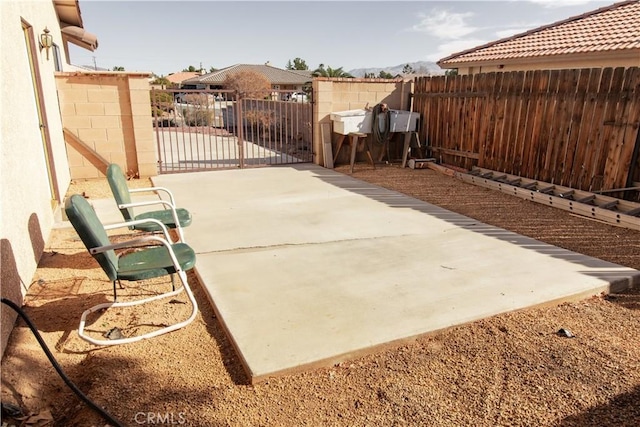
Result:
{"label": "reddish clay tile roof above the wooden fence", "polygon": [[615,3],[454,53],[439,60],[438,64],[626,49],[640,49],[640,0]]}

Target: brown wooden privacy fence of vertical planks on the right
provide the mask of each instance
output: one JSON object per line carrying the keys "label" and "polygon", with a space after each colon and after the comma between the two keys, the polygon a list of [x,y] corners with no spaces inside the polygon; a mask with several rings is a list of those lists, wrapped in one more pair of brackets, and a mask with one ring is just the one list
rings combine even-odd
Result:
{"label": "brown wooden privacy fence of vertical planks on the right", "polygon": [[442,163],[586,191],[640,185],[640,68],[422,77],[414,96]]}

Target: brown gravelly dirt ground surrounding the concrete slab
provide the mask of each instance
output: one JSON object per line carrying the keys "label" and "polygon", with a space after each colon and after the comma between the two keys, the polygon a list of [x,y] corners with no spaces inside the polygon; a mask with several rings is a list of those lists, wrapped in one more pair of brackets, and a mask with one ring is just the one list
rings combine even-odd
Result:
{"label": "brown gravelly dirt ground surrounding the concrete slab", "polygon": [[[346,167],[337,170],[348,173]],[[373,170],[360,164],[353,176],[491,225],[640,269],[638,231],[427,169]],[[147,184],[130,181],[131,186]],[[84,192],[89,199],[110,197],[106,181],[74,182],[70,193],[74,192]],[[128,237],[121,233],[114,238]],[[494,316],[333,366],[251,385],[195,274],[189,275],[189,282],[199,313],[188,327],[133,344],[92,346],[77,336],[78,321],[89,306],[111,300],[111,283],[75,232],[58,229],[49,237],[25,310],[70,379],[123,425],[640,425],[638,289]],[[140,296],[168,286],[153,285],[157,284],[127,284],[119,295]],[[184,296],[142,311],[108,313],[91,329],[118,324],[126,334],[137,333],[173,316],[187,316],[189,306],[182,302]],[[574,337],[558,335],[561,328]],[[106,424],[65,386],[22,321],[2,360],[2,402],[32,416],[29,425]],[[40,424],[33,416],[40,416]],[[3,422],[9,420],[5,417]]]}

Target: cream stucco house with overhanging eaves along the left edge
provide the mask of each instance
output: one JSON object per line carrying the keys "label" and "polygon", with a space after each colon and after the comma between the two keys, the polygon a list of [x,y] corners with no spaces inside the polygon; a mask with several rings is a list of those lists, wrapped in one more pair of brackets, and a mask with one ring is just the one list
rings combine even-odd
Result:
{"label": "cream stucco house with overhanging eaves along the left edge", "polygon": [[[0,11],[0,45],[11,47],[0,65],[0,292],[21,305],[71,182],[54,73],[75,70],[68,43],[93,51],[98,41],[74,0],[0,1]],[[4,354],[16,315],[0,311]]]}

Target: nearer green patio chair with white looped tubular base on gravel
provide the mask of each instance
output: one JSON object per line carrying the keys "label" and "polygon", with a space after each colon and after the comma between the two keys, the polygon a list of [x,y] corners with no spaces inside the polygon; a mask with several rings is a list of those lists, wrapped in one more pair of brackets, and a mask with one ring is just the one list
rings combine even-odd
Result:
{"label": "nearer green patio chair with white looped tubular base on gravel", "polygon": [[[78,194],[67,199],[65,202],[65,212],[91,256],[98,261],[98,264],[100,264],[100,267],[102,267],[107,277],[109,277],[109,280],[113,282],[113,302],[98,304],[82,313],[80,327],[78,328],[78,334],[82,339],[95,345],[126,344],[175,331],[188,325],[195,319],[198,304],[189,288],[186,273],[186,271],[195,265],[195,252],[186,243],[172,243],[169,237],[169,231],[164,224],[156,219],[146,218],[104,226],[89,202]],[[159,234],[145,234],[126,242],[111,243],[107,235],[107,230],[138,226],[143,222],[155,223],[158,229],[162,230],[164,237],[160,237]],[[128,248],[135,248],[135,250],[116,254],[116,250]],[[182,286],[178,289],[176,289],[174,281],[176,274],[182,282]],[[170,292],[140,300],[117,301],[116,282],[120,283],[121,280],[139,281],[162,276],[171,277],[172,290]],[[95,339],[85,333],[86,317],[90,313],[110,307],[136,306],[161,298],[172,297],[182,291],[187,293],[187,297],[192,306],[191,315],[185,321],[143,335],[113,340]]]}

